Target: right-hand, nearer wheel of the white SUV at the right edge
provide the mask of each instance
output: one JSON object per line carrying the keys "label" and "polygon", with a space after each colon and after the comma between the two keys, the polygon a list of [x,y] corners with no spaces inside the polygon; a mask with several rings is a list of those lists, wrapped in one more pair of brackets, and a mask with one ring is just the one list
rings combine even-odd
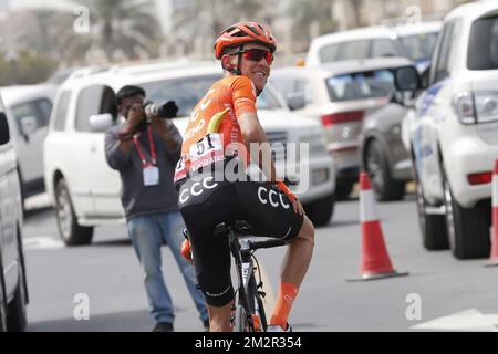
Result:
{"label": "right-hand, nearer wheel of the white SUV at the right edge", "polygon": [[453,256],[457,259],[488,257],[490,208],[486,202],[477,202],[474,208],[461,207],[454,198],[446,176],[443,177],[446,228]]}

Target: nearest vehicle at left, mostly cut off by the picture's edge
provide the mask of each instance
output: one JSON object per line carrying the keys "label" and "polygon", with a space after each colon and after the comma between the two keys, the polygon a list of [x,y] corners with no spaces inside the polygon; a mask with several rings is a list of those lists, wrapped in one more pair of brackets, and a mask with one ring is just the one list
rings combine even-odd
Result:
{"label": "nearest vehicle at left, mostly cut off by the picture's edge", "polygon": [[21,188],[12,125],[0,97],[0,331],[22,331],[27,323]]}

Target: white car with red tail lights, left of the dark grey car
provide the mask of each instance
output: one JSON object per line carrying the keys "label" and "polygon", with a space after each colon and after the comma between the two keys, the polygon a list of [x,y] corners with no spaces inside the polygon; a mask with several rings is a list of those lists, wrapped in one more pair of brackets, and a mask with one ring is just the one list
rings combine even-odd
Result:
{"label": "white car with red tail lights, left of the dark grey car", "polygon": [[390,102],[394,92],[391,70],[411,64],[405,58],[377,58],[284,67],[270,75],[294,112],[322,123],[336,165],[338,198],[346,198],[357,181],[359,136],[365,115]]}

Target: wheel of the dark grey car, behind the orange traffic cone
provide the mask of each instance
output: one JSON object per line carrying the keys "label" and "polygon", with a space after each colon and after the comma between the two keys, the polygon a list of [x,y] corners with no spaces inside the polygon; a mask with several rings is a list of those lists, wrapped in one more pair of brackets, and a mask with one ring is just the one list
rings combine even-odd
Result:
{"label": "wheel of the dark grey car, behind the orange traffic cone", "polygon": [[405,183],[395,180],[387,158],[377,140],[369,143],[365,152],[365,170],[372,183],[375,198],[380,201],[400,200],[405,195]]}

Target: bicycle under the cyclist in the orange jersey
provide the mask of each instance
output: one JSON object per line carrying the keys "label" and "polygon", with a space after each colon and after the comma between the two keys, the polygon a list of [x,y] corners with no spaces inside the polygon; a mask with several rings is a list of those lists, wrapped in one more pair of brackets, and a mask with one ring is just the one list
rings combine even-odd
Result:
{"label": "bicycle under the cyclist in the orange jersey", "polygon": [[[268,320],[263,306],[266,293],[259,263],[253,253],[261,248],[273,248],[288,243],[281,239],[261,241],[249,239],[250,230],[250,225],[243,220],[237,220],[232,223],[221,222],[215,227],[216,237],[228,237],[230,252],[237,269],[238,284],[231,316],[234,332],[267,331]],[[184,236],[188,238],[186,229]],[[258,266],[259,282],[256,282],[256,267],[252,260]]]}

